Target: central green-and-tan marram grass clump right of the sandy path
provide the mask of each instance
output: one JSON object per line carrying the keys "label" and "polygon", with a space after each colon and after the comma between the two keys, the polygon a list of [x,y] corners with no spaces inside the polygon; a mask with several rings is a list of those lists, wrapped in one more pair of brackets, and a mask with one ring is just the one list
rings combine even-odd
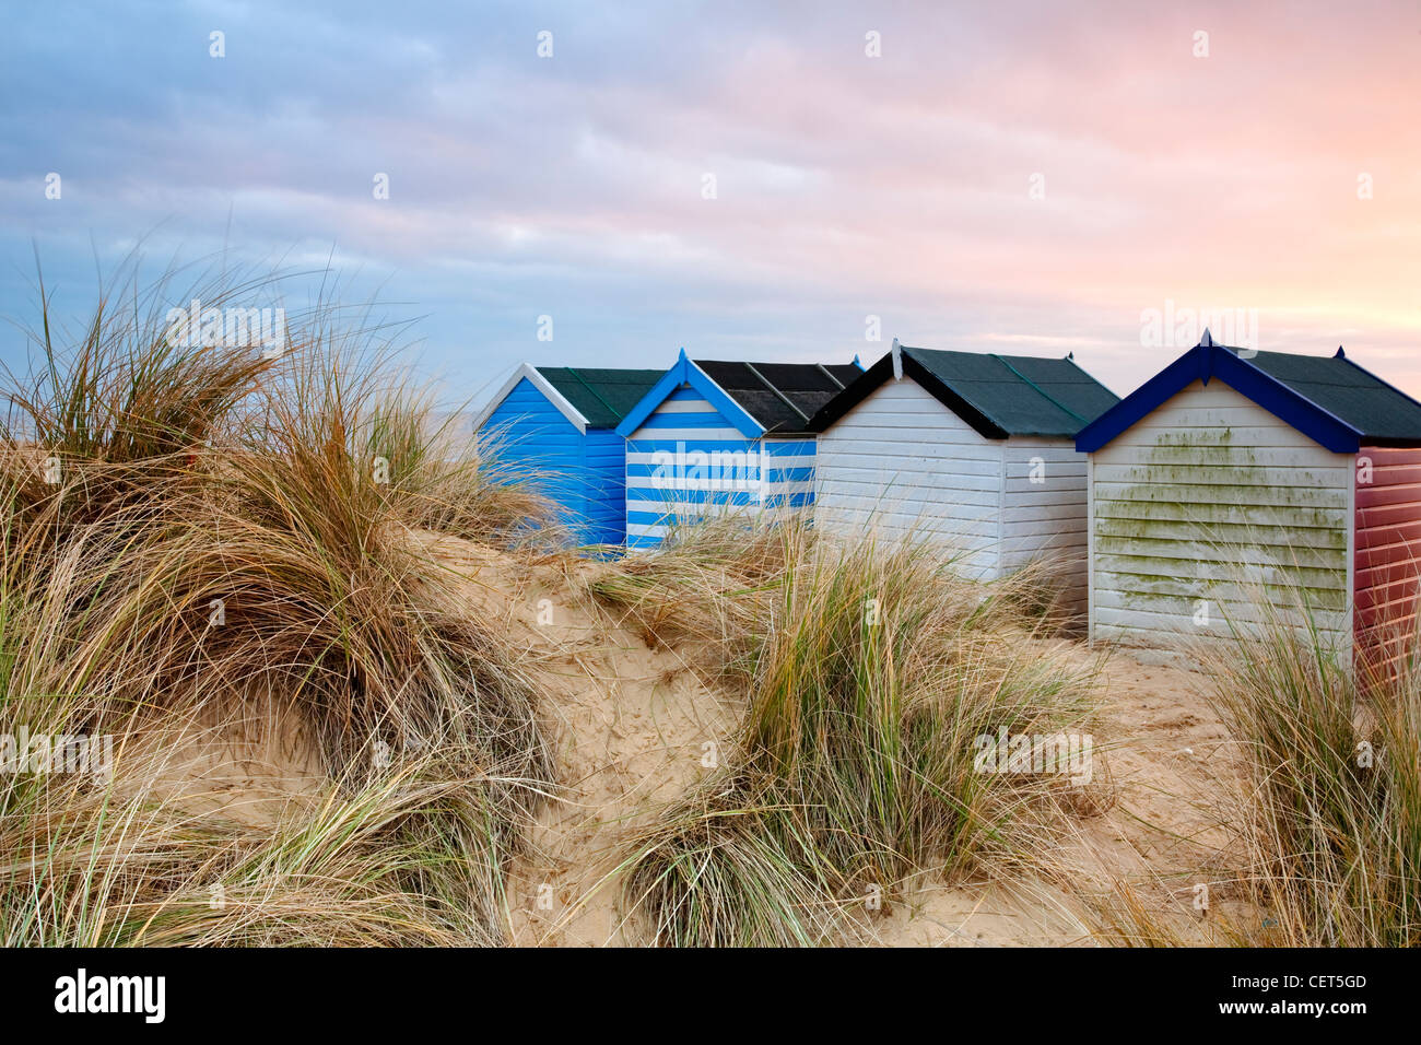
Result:
{"label": "central green-and-tan marram grass clump right of the sandy path", "polygon": [[[926,546],[840,546],[793,525],[740,547],[753,562],[722,562],[699,583],[728,582],[718,597],[739,604],[725,637],[756,621],[725,647],[749,711],[723,765],[624,863],[625,904],[654,940],[861,940],[861,916],[922,869],[1026,863],[1060,781],[978,772],[975,741],[1084,728],[1091,672],[1027,651],[1012,582],[958,580]],[[685,606],[698,572],[685,554],[664,553],[666,583],[705,631],[705,613]],[[631,590],[645,614],[657,567],[628,569],[630,583],[604,579],[598,591]]]}

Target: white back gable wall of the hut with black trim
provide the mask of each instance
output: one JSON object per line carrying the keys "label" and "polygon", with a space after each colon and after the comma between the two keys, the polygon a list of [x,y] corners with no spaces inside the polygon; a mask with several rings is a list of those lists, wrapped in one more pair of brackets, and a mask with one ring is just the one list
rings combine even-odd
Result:
{"label": "white back gable wall of the hut with black trim", "polygon": [[966,576],[996,577],[1002,442],[983,439],[911,378],[888,381],[821,432],[814,525],[942,545]]}

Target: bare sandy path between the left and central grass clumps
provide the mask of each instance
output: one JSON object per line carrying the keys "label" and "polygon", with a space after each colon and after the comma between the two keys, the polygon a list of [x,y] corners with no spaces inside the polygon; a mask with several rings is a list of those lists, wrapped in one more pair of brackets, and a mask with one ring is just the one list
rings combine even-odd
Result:
{"label": "bare sandy path between the left and central grass clumps", "polygon": [[539,681],[556,734],[561,789],[509,876],[516,945],[637,943],[622,924],[615,867],[630,829],[702,775],[743,705],[693,670],[692,650],[649,650],[617,627],[553,560],[509,559],[455,539],[431,550],[465,577],[485,620],[503,626]]}

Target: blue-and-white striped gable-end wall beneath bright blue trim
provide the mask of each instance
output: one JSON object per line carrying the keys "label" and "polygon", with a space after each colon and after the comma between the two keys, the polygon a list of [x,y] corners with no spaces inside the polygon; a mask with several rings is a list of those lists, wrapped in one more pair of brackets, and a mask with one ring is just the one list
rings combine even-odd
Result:
{"label": "blue-and-white striped gable-end wall beneath bright blue trim", "polygon": [[759,439],[678,388],[627,441],[627,546],[654,547],[709,513],[759,510],[760,465]]}

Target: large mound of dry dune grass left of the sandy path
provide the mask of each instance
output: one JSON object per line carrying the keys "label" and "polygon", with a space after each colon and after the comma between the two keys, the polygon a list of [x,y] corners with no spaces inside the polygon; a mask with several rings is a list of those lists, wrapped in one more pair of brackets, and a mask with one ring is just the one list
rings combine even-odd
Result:
{"label": "large mound of dry dune grass left of the sandy path", "polygon": [[[112,778],[0,781],[0,938],[502,941],[553,755],[531,680],[409,529],[519,540],[547,506],[452,452],[388,347],[324,320],[276,361],[173,344],[162,297],[105,299],[71,350],[45,303],[10,395],[7,729],[119,742]],[[169,721],[271,707],[330,783],[270,830],[193,813],[139,754]]]}

